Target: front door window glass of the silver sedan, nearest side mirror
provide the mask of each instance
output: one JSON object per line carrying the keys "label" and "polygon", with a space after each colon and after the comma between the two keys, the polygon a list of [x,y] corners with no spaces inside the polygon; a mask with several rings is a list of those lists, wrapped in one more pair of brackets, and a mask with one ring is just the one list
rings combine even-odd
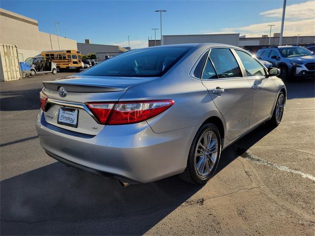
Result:
{"label": "front door window glass of the silver sedan, nearest side mirror", "polygon": [[235,50],[235,52],[241,59],[247,76],[265,76],[264,67],[253,59],[251,55],[239,50]]}

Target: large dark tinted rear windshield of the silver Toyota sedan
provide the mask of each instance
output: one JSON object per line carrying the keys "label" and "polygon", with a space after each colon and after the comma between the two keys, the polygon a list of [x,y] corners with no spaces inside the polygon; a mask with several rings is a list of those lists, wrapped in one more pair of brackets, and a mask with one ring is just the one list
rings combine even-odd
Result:
{"label": "large dark tinted rear windshield of the silver Toyota sedan", "polygon": [[82,72],[90,76],[159,77],[179,61],[190,47],[145,48],[126,52]]}

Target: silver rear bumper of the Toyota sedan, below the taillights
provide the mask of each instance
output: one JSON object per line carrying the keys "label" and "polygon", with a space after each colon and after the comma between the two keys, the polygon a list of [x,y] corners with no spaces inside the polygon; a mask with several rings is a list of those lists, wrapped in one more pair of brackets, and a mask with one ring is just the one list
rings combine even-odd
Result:
{"label": "silver rear bumper of the Toyota sedan, below the taillights", "polygon": [[129,183],[151,182],[179,174],[187,165],[198,127],[157,134],[146,121],[107,125],[97,135],[84,135],[36,119],[40,144],[67,165]]}

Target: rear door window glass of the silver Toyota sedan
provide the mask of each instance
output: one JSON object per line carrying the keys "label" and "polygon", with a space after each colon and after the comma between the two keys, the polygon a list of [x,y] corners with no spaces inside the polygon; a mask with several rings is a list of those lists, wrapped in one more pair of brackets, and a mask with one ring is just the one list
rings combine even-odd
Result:
{"label": "rear door window glass of the silver Toyota sedan", "polygon": [[236,59],[229,49],[212,49],[210,52],[219,78],[242,77],[242,72]]}

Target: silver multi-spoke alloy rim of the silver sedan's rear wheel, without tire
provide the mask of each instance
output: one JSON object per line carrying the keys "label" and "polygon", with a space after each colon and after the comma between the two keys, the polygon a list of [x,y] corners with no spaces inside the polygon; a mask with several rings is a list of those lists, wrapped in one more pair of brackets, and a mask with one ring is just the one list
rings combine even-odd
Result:
{"label": "silver multi-spoke alloy rim of the silver sedan's rear wheel, without tire", "polygon": [[218,138],[212,131],[206,131],[199,139],[195,151],[195,167],[201,177],[208,177],[218,158]]}

